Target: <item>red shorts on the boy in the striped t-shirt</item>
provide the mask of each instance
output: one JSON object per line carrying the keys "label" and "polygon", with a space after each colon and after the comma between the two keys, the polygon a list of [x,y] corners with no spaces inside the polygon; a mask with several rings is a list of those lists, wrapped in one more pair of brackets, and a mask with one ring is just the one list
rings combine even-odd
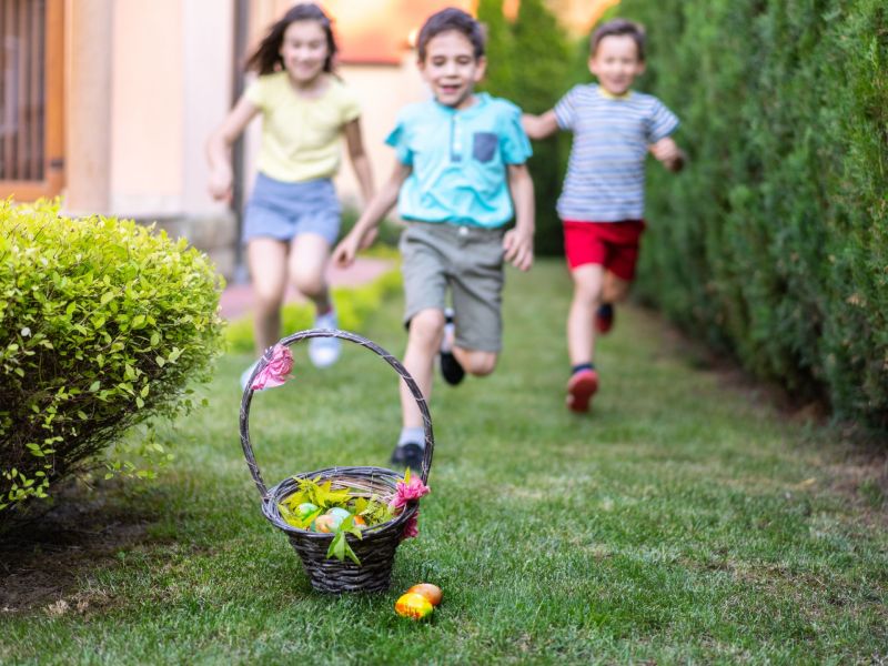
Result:
{"label": "red shorts on the boy in the striped t-shirt", "polygon": [[564,221],[564,250],[567,265],[592,263],[603,265],[620,280],[635,278],[638,243],[645,230],[644,220],[625,222]]}

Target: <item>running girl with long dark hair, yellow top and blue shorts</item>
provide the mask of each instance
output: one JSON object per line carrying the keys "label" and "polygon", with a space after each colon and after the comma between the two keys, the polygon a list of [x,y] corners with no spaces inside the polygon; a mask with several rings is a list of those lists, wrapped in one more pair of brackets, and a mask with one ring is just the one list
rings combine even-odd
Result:
{"label": "running girl with long dark hair, yellow top and blue shorts", "polygon": [[[333,73],[336,42],[330,19],[312,3],[296,4],[274,23],[246,62],[259,78],[210,137],[210,194],[231,200],[231,145],[262,114],[255,186],[244,212],[243,241],[255,297],[258,354],[280,337],[287,279],[317,309],[314,326],[336,329],[325,270],[340,229],[331,178],[340,167],[340,137],[365,201],[373,178],[361,138],[355,97]],[[310,341],[317,367],[339,359],[334,337]],[[253,366],[241,376],[244,385]]]}

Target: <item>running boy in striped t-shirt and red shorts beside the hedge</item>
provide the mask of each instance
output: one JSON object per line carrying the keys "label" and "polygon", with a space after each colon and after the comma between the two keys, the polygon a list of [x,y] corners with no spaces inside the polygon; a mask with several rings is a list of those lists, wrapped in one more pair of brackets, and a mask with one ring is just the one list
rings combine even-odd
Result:
{"label": "running boy in striped t-shirt and red shorts beside the hedge", "polygon": [[576,85],[551,111],[523,117],[531,139],[574,132],[557,204],[574,281],[567,315],[567,406],[574,412],[587,412],[598,390],[595,334],[610,330],[613,304],[626,296],[635,276],[647,152],[670,171],[685,161],[670,138],[678,128],[675,114],[657,98],[630,90],[645,69],[644,29],[625,19],[608,21],[593,32],[589,50],[589,71],[598,83]]}

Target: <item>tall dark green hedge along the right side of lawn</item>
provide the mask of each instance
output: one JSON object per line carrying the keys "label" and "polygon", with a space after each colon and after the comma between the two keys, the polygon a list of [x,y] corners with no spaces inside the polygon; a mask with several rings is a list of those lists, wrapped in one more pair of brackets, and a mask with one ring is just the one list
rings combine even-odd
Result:
{"label": "tall dark green hedge along the right side of lawn", "polygon": [[888,426],[888,3],[624,0],[684,122],[640,291],[799,400]]}

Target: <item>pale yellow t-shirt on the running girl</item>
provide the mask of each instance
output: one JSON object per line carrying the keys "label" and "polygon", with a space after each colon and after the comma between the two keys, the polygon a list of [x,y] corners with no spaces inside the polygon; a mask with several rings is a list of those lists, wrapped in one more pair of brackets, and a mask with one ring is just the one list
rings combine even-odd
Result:
{"label": "pale yellow t-shirt on the running girl", "polygon": [[333,75],[316,98],[296,93],[287,73],[256,79],[246,99],[262,111],[259,170],[284,182],[332,178],[341,162],[342,128],[361,115],[357,98]]}

